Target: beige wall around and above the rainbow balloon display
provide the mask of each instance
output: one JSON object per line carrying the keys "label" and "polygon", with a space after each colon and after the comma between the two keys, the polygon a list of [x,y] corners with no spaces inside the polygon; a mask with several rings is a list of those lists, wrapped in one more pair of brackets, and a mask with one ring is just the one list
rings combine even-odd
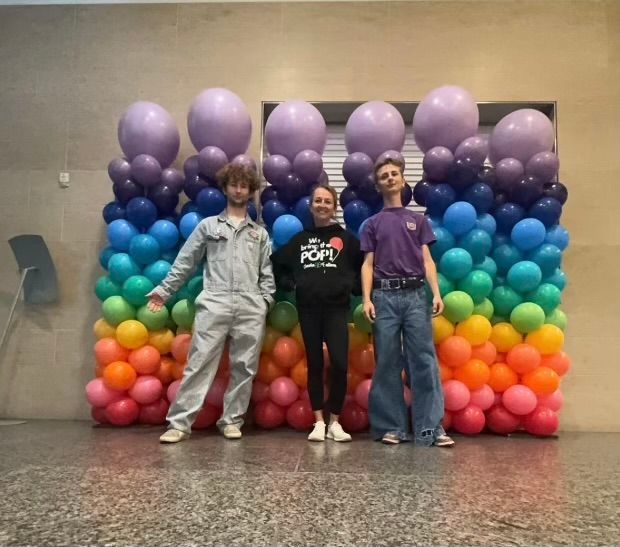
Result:
{"label": "beige wall around and above the rainbow balloon display", "polygon": [[[620,2],[272,3],[0,8],[0,320],[17,283],[6,240],[42,233],[62,299],[20,312],[0,365],[0,415],[86,417],[92,293],[116,124],[160,103],[192,153],[202,89],[262,100],[419,100],[458,84],[479,101],[555,100],[572,236],[565,310],[573,370],[562,427],[620,431]],[[58,171],[71,172],[61,190]]]}

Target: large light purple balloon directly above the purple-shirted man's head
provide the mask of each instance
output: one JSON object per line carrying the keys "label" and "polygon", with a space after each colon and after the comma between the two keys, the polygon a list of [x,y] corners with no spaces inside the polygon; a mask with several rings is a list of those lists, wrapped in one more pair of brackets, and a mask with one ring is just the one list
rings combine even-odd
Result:
{"label": "large light purple balloon directly above the purple-shirted man's head", "polygon": [[383,101],[358,106],[344,130],[347,152],[363,152],[375,161],[386,150],[400,152],[405,144],[405,122],[396,108]]}

